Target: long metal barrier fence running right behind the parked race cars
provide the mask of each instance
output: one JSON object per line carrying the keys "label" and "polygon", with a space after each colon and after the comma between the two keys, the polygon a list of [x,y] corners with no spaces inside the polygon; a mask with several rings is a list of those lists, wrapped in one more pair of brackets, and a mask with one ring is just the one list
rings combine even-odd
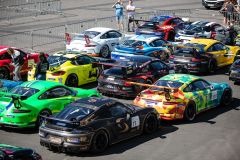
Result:
{"label": "long metal barrier fence running right behind the parked race cars", "polygon": [[[1,12],[1,10],[0,10]],[[192,21],[210,21],[219,24],[223,23],[223,15],[217,11],[209,10],[159,10],[156,12],[146,12],[135,14],[135,19],[149,20],[155,15],[175,15],[180,18],[190,18]],[[231,21],[239,26],[239,21],[236,19],[238,14],[231,16]],[[124,31],[127,29],[128,18],[124,16],[123,24]],[[64,42],[66,44],[65,33],[70,33],[71,38],[75,38],[75,34],[71,33],[82,33],[85,30],[93,27],[108,27],[118,29],[116,17],[107,17],[92,19],[88,21],[81,21],[71,23],[68,25],[61,25],[43,29],[36,29],[31,32],[19,32],[9,35],[0,36],[0,44],[6,46],[14,46],[21,49],[31,49],[34,47],[44,46],[56,42]]]}

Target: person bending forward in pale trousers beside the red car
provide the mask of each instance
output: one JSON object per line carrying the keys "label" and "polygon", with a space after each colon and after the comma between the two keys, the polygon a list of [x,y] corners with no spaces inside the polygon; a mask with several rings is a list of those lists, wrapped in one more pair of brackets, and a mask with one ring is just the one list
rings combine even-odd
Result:
{"label": "person bending forward in pale trousers beside the red car", "polygon": [[17,50],[14,50],[12,48],[7,49],[8,54],[12,56],[12,62],[10,63],[11,66],[13,66],[13,80],[14,81],[21,81],[22,77],[20,75],[20,70],[25,62],[23,59],[21,53]]}

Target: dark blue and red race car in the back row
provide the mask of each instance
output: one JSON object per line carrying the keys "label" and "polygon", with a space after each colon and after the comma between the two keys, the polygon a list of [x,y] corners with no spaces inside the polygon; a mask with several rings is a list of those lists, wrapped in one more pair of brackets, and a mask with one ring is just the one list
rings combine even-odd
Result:
{"label": "dark blue and red race car in the back row", "polygon": [[[185,22],[179,17],[168,15],[158,15],[151,18],[149,21],[132,21],[135,21],[138,26],[135,30],[136,35],[156,35],[172,42],[175,41],[176,31],[179,29],[185,29],[185,27],[189,25],[189,22]],[[139,22],[141,21],[145,23],[140,26]]]}

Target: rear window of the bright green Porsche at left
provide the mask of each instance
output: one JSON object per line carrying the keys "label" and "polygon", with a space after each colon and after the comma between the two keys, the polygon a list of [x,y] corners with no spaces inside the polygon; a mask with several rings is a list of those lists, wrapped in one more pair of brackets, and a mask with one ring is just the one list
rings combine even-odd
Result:
{"label": "rear window of the bright green Porsche at left", "polygon": [[[19,94],[22,96],[27,96],[27,98],[31,97],[32,95],[39,92],[38,89],[35,88],[29,88],[29,87],[16,87],[13,90],[11,90],[9,93],[13,94]],[[11,97],[10,95],[6,95],[5,97]]]}

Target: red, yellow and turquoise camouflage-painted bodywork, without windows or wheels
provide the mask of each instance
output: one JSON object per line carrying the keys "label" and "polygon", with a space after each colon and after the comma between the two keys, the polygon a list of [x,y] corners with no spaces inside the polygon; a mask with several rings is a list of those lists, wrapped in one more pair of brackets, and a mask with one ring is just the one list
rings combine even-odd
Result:
{"label": "red, yellow and turquoise camouflage-painted bodywork, without windows or wheels", "polygon": [[[171,74],[164,76],[159,81],[161,80],[167,80],[170,83],[181,82],[183,85],[178,89],[172,88],[169,92],[165,90],[169,90],[170,88],[168,87],[160,87],[165,88],[163,91],[160,91],[152,89],[152,87],[157,88],[156,85],[148,85],[150,88],[142,91],[134,100],[134,104],[140,107],[154,107],[160,113],[162,119],[173,120],[184,118],[186,114],[185,109],[190,101],[195,106],[193,110],[194,118],[196,114],[220,105],[221,99],[224,99],[222,95],[226,92],[225,90],[228,91],[228,94],[224,94],[229,101],[227,105],[232,100],[232,89],[227,83],[207,82],[200,77],[185,74]],[[204,82],[208,86],[204,89],[197,88],[193,91],[186,91],[189,85],[197,81]],[[170,96],[169,99],[167,98],[168,100],[166,99],[166,94]]]}

